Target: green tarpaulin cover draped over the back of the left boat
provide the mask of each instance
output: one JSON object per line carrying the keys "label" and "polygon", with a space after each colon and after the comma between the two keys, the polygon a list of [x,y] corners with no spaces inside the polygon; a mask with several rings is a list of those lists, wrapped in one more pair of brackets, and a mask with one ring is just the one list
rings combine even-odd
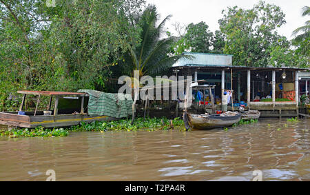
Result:
{"label": "green tarpaulin cover draped over the back of the left boat", "polygon": [[123,118],[132,115],[132,96],[130,94],[110,94],[96,90],[79,90],[80,93],[90,94],[88,115],[111,116]]}

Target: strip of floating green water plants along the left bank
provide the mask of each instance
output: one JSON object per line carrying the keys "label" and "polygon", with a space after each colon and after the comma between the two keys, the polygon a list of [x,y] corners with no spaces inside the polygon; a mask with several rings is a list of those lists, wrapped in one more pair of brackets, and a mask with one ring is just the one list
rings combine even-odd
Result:
{"label": "strip of floating green water plants along the left bank", "polygon": [[68,136],[70,132],[106,132],[106,131],[136,131],[147,130],[171,130],[173,127],[183,125],[183,120],[175,118],[170,120],[167,118],[138,118],[131,124],[131,119],[122,119],[118,121],[94,121],[92,123],[82,122],[80,125],[74,125],[68,128],[49,129],[44,127],[35,127],[34,129],[14,129],[0,130],[1,136],[10,137],[51,137],[51,136]]}

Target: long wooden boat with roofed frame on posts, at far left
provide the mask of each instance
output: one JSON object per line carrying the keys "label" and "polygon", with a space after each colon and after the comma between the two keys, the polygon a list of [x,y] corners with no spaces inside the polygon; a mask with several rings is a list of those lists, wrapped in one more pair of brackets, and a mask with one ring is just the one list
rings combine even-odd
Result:
{"label": "long wooden boat with roofed frame on posts, at far left", "polygon": [[[85,112],[89,94],[76,92],[42,92],[42,91],[18,91],[23,94],[23,100],[19,112],[0,112],[0,124],[12,127],[64,127],[78,125],[82,121],[112,121],[116,120],[110,116],[89,116]],[[27,94],[39,96],[35,111],[23,112],[25,97]],[[37,110],[41,96],[50,96],[47,110]],[[52,98],[55,98],[54,109],[51,110]],[[63,107],[59,105],[64,105]],[[46,115],[49,114],[49,115]]]}

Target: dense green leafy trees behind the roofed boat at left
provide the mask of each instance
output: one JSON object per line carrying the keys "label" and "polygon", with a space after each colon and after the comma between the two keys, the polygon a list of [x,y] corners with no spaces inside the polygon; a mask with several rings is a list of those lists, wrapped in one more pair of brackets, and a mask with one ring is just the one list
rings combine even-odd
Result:
{"label": "dense green leafy trees behind the roofed boat at left", "polygon": [[17,90],[104,90],[110,66],[140,43],[131,21],[143,4],[1,0],[0,110]]}

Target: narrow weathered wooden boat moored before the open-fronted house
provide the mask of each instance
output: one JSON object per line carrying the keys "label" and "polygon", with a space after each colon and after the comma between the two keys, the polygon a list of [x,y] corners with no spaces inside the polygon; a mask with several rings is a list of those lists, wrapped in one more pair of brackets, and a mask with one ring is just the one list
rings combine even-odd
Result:
{"label": "narrow weathered wooden boat moored before the open-fronted house", "polygon": [[186,112],[185,114],[187,114],[189,126],[198,130],[231,126],[234,123],[238,123],[241,118],[240,113],[231,116],[223,116],[223,114],[189,114]]}

